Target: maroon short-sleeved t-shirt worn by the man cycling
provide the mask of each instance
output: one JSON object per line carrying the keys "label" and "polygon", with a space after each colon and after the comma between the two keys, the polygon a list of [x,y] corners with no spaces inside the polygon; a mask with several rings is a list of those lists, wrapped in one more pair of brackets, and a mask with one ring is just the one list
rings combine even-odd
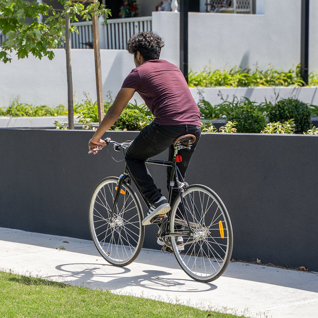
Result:
{"label": "maroon short-sleeved t-shirt worn by the man cycling", "polygon": [[150,60],[134,68],[121,87],[134,88],[159,125],[201,126],[200,111],[182,72],[165,60]]}

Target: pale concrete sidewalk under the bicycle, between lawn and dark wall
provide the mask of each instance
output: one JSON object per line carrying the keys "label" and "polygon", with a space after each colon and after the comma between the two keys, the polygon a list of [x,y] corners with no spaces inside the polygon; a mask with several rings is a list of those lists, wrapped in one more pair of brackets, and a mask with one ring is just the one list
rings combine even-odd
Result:
{"label": "pale concrete sidewalk under the bicycle, between lawn and dark wall", "polygon": [[318,273],[233,262],[218,280],[200,283],[168,252],[143,249],[135,262],[116,267],[92,241],[6,228],[0,228],[0,268],[245,317],[318,316]]}

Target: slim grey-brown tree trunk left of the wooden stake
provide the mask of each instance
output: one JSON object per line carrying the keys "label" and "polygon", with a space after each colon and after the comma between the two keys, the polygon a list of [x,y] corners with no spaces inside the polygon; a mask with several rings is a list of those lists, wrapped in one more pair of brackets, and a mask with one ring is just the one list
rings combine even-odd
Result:
{"label": "slim grey-brown tree trunk left of the wooden stake", "polygon": [[65,16],[65,51],[66,51],[68,128],[74,129],[73,82],[72,82],[72,66],[71,66],[71,32],[70,32],[70,14],[69,13],[66,13],[66,16]]}

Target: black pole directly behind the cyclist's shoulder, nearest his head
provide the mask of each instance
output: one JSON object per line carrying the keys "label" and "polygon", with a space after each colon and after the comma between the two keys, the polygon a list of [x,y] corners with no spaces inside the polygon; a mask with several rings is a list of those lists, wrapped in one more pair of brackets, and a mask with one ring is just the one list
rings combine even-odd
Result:
{"label": "black pole directly behind the cyclist's shoulder, nearest his head", "polygon": [[180,70],[188,82],[188,12],[189,0],[180,0]]}

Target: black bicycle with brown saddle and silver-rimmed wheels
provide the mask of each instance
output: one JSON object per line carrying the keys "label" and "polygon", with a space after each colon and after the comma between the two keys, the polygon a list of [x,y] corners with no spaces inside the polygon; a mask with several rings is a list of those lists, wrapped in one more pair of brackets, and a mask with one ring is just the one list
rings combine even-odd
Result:
{"label": "black bicycle with brown saddle and silver-rimmed wheels", "polygon": [[[177,162],[182,158],[178,150],[190,149],[195,138],[194,135],[177,138],[172,161],[145,161],[172,168],[168,196],[171,210],[152,219],[151,223],[159,227],[156,236],[164,243],[162,251],[172,250],[183,271],[192,279],[210,282],[220,277],[230,262],[233,233],[230,217],[218,195],[204,185],[188,185],[179,172]],[[115,151],[122,149],[125,153],[131,141],[119,143],[106,138],[107,149],[111,144]],[[109,149],[108,152],[111,155]],[[90,201],[89,228],[93,242],[100,255],[115,266],[133,262],[144,240],[142,206],[132,182],[148,209],[150,204],[142,196],[127,165],[120,177],[101,180]],[[178,189],[178,196],[171,202],[174,188]]]}

